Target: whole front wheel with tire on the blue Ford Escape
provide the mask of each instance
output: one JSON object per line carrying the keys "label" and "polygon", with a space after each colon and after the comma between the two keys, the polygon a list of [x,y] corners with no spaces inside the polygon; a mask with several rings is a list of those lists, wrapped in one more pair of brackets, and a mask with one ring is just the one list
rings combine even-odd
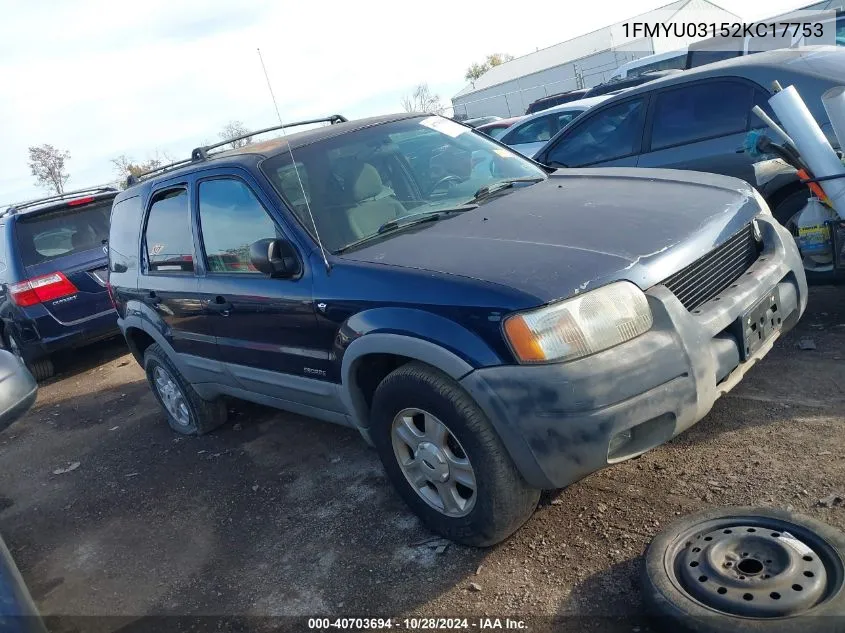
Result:
{"label": "whole front wheel with tire on the blue Ford Escape", "polygon": [[528,486],[472,398],[448,376],[412,362],[376,389],[372,438],[399,495],[432,531],[494,545],[534,512]]}

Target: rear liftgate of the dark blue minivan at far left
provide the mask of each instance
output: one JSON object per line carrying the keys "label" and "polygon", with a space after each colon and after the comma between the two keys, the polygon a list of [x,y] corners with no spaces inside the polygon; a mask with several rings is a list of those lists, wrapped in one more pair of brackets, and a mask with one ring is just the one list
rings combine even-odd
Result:
{"label": "rear liftgate of the dark blue minivan at far left", "polygon": [[[59,209],[23,213],[15,222],[17,250],[27,279],[42,278],[41,283],[64,288],[57,291],[60,296],[43,301],[47,311],[64,324],[113,311],[105,286],[112,197],[81,200]],[[64,275],[73,287],[57,275]]]}

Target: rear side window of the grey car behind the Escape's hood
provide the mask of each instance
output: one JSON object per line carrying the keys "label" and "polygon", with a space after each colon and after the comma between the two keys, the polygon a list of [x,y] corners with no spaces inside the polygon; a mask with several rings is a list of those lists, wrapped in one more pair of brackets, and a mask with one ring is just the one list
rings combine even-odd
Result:
{"label": "rear side window of the grey car behind the Escape's hood", "polygon": [[751,109],[751,86],[708,81],[655,96],[651,149],[743,132]]}

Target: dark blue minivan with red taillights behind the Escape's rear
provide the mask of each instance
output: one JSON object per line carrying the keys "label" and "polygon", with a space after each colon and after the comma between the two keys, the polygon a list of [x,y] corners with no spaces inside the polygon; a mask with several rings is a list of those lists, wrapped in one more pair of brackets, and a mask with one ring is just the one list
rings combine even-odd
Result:
{"label": "dark blue minivan with red taillights behind the Escape's rear", "polygon": [[96,187],[15,204],[0,215],[3,344],[38,380],[50,355],[120,333],[106,290],[109,212]]}

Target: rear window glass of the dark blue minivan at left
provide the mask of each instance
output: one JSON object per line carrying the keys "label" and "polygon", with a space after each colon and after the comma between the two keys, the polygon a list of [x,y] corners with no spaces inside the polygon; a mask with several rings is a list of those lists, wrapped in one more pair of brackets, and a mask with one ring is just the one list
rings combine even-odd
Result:
{"label": "rear window glass of the dark blue minivan at left", "polygon": [[24,266],[103,248],[109,237],[111,200],[79,208],[22,215],[16,234]]}

